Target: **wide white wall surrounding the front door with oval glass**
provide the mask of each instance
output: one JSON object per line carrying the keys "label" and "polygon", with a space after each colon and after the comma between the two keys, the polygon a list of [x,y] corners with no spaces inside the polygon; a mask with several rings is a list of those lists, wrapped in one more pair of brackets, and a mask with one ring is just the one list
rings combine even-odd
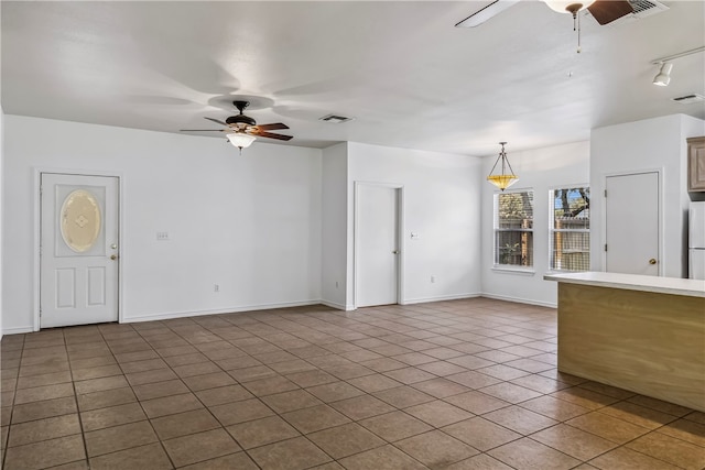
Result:
{"label": "wide white wall surrounding the front door with oval glass", "polygon": [[321,150],[257,142],[240,156],[224,139],[17,116],[4,125],[6,332],[33,323],[35,168],[121,175],[126,321],[321,299]]}

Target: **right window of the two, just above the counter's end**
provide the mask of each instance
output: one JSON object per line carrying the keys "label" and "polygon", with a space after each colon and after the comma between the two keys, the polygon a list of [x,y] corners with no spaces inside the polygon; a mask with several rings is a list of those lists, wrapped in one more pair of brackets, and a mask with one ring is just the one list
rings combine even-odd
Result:
{"label": "right window of the two, just above the counter's end", "polygon": [[551,269],[589,271],[590,269],[590,188],[553,189],[550,227]]}

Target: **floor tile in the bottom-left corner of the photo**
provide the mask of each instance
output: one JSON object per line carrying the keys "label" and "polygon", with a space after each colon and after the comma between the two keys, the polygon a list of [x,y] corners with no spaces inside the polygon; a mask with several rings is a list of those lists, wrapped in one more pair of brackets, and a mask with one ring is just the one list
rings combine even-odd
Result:
{"label": "floor tile in the bottom-left corner of the photo", "polygon": [[84,439],[76,435],[43,440],[26,446],[10,447],[6,453],[4,467],[8,470],[34,470],[85,458]]}

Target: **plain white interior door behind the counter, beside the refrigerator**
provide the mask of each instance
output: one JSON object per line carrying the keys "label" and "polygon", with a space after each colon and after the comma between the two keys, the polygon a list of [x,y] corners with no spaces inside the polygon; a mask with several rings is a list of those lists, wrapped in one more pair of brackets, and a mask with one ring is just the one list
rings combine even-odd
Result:
{"label": "plain white interior door behind the counter, beside the refrigerator", "polygon": [[605,271],[659,275],[659,173],[608,176]]}

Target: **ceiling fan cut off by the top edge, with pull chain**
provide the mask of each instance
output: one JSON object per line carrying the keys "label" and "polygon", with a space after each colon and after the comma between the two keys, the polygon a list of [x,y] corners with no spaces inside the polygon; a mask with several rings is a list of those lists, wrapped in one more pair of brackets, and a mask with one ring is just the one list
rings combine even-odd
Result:
{"label": "ceiling fan cut off by the top edge, with pull chain", "polygon": [[[495,0],[465,20],[456,23],[456,28],[479,26],[518,2],[519,0]],[[634,12],[633,7],[627,0],[543,0],[543,2],[553,11],[573,14],[573,30],[577,31],[578,53],[581,52],[581,17],[577,14],[578,11],[587,9],[600,25],[609,24],[612,21]]]}

